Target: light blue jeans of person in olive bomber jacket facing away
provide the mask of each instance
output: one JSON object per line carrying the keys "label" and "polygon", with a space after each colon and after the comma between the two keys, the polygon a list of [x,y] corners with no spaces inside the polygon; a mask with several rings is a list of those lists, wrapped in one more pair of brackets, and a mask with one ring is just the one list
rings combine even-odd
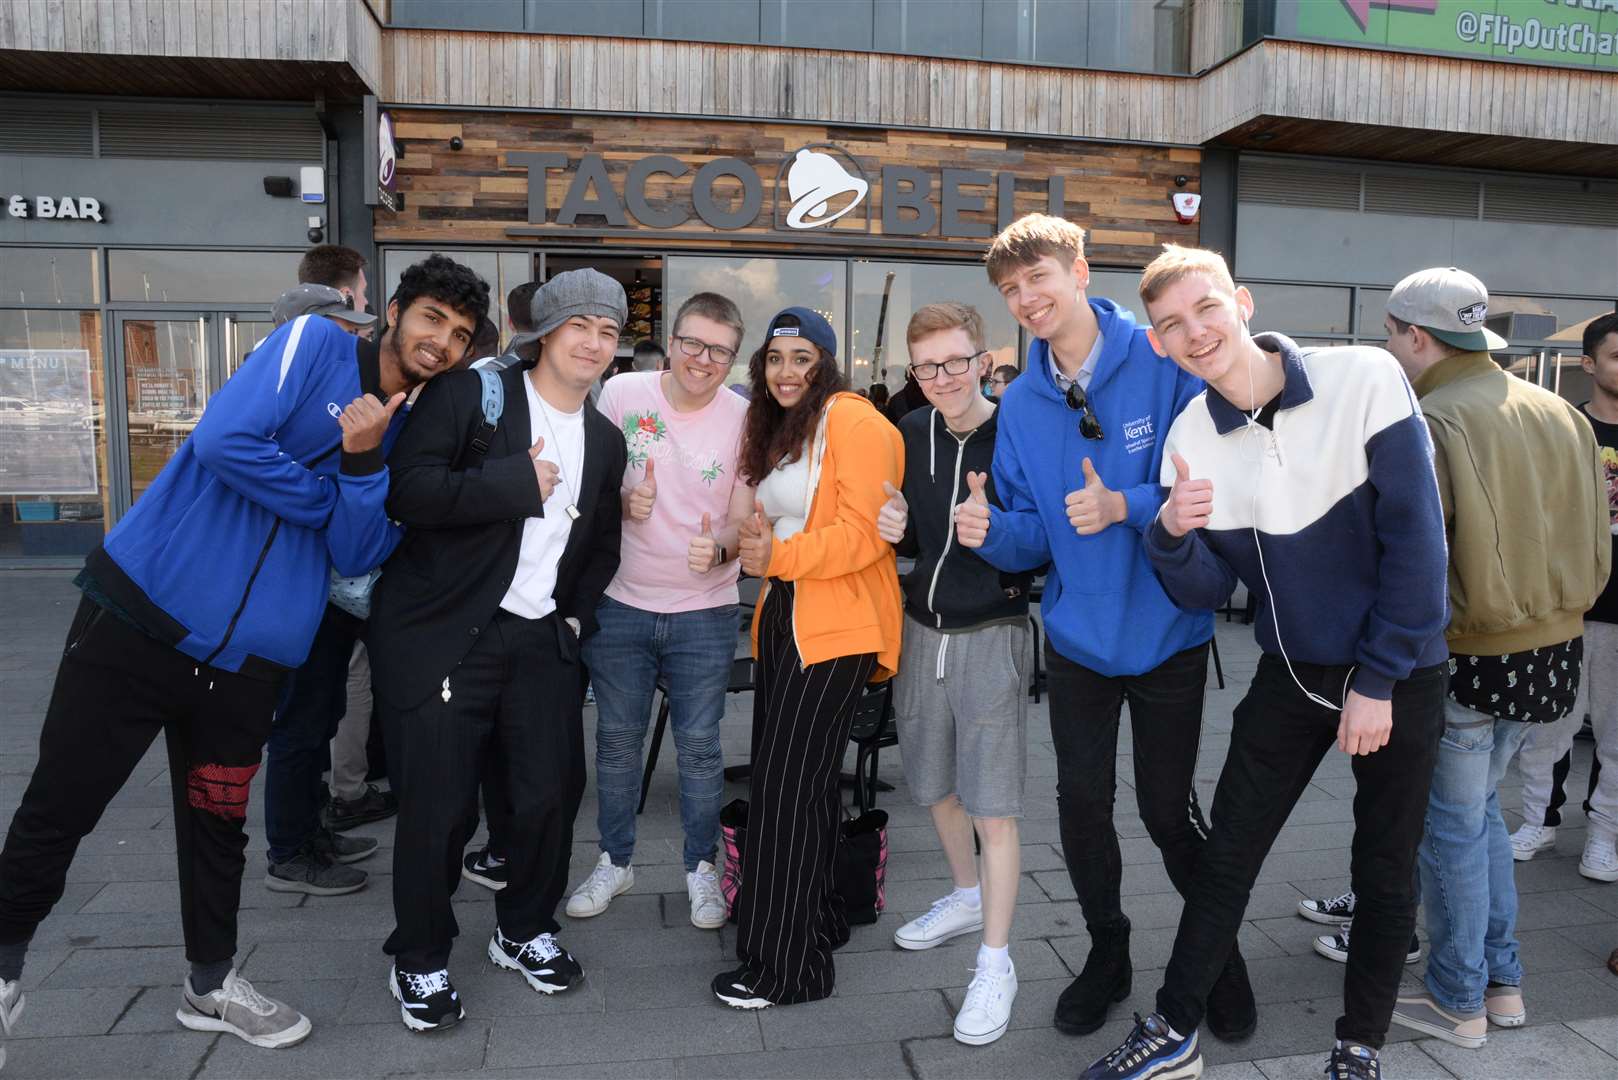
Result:
{"label": "light blue jeans of person in olive bomber jacket facing away", "polygon": [[1477,1012],[1489,983],[1523,984],[1511,839],[1495,789],[1529,725],[1448,699],[1443,721],[1417,860],[1427,989],[1445,1009]]}

